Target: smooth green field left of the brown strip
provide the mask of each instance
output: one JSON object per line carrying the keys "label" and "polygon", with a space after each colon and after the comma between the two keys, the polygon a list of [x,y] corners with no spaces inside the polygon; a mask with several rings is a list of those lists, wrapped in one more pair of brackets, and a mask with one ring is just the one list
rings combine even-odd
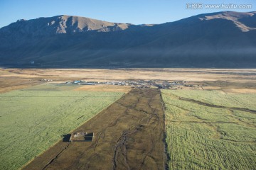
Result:
{"label": "smooth green field left of the brown strip", "polygon": [[0,94],[0,169],[19,169],[123,94],[43,84]]}

